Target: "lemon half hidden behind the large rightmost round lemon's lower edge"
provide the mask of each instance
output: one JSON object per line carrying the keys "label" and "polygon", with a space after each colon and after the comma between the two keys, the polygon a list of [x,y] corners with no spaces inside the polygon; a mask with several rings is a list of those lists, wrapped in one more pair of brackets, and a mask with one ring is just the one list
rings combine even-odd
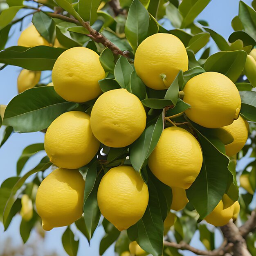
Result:
{"label": "lemon half hidden behind the large rightmost round lemon's lower edge", "polygon": [[[243,117],[239,116],[238,119],[234,120],[234,122],[228,126],[224,126],[220,129],[224,129],[229,132],[234,141],[230,144],[225,145],[226,155],[231,157],[232,155],[236,155],[242,148],[245,146],[245,142],[248,138],[249,132],[249,124]],[[223,141],[225,138],[220,139]]]}

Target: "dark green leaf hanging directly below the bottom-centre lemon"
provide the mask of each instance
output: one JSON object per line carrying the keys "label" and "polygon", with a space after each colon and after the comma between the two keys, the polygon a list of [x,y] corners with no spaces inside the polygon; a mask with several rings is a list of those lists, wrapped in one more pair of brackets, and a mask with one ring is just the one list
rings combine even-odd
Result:
{"label": "dark green leaf hanging directly below the bottom-centre lemon", "polygon": [[99,245],[100,255],[106,252],[108,247],[110,247],[110,245],[112,245],[112,243],[114,243],[120,235],[120,231],[105,218],[102,221],[102,225],[105,229],[106,235],[103,236]]}

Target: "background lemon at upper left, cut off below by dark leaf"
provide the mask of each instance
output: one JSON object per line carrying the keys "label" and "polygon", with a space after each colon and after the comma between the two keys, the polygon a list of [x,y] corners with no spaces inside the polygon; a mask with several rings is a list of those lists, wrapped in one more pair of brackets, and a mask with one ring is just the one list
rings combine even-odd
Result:
{"label": "background lemon at upper left, cut off below by dark leaf", "polygon": [[45,38],[43,38],[43,36],[39,34],[39,32],[36,30],[36,27],[31,25],[21,32],[20,38],[18,39],[18,45],[25,47],[35,47],[38,45],[49,46],[49,43],[47,40],[45,40]]}

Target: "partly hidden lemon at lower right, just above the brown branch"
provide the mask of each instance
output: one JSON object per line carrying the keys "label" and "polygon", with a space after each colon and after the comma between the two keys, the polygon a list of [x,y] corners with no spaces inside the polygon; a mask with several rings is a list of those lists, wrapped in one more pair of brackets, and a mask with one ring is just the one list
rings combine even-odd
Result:
{"label": "partly hidden lemon at lower right, just above the brown branch", "polygon": [[224,226],[233,216],[234,218],[237,217],[239,211],[238,205],[237,203],[234,204],[227,194],[224,194],[222,200],[220,200],[213,211],[204,219],[216,227]]}

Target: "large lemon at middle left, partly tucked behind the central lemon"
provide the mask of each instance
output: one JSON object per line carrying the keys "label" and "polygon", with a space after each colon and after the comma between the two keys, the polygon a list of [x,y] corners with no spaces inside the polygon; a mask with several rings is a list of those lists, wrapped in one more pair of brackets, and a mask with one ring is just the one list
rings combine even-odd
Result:
{"label": "large lemon at middle left, partly tucked behind the central lemon", "polygon": [[58,167],[76,169],[88,164],[99,149],[90,127],[90,116],[81,111],[57,117],[45,134],[45,151]]}

